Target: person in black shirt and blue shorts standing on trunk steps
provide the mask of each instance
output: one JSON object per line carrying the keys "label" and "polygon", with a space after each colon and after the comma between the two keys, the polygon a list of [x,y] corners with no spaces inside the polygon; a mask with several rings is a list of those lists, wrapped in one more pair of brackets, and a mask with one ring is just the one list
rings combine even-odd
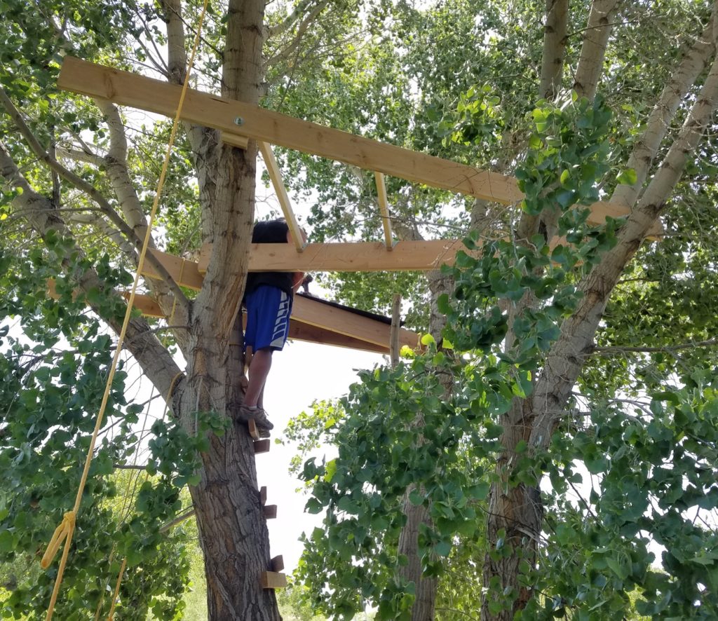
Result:
{"label": "person in black shirt and blue shorts standing on trunk steps", "polygon": [[[304,241],[307,234],[302,230]],[[252,243],[286,243],[291,241],[289,226],[284,219],[258,222],[252,231]],[[271,358],[281,351],[289,335],[289,317],[292,299],[302,286],[302,272],[264,271],[247,276],[244,306],[247,309],[247,327],[244,335],[246,348],[251,347],[249,382],[240,415],[245,421],[252,419],[261,437],[269,437],[274,427],[264,411],[264,385],[271,369]]]}

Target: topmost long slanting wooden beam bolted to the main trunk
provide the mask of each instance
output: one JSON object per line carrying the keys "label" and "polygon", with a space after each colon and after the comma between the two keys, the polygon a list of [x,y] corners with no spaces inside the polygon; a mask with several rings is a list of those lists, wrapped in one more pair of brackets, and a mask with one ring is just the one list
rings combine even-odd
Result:
{"label": "topmost long slanting wooden beam bolted to the main trunk", "polygon": [[[73,93],[174,116],[181,87],[66,56],[57,85]],[[189,89],[182,119],[363,169],[505,204],[523,194],[516,179],[355,136],[317,123]]]}

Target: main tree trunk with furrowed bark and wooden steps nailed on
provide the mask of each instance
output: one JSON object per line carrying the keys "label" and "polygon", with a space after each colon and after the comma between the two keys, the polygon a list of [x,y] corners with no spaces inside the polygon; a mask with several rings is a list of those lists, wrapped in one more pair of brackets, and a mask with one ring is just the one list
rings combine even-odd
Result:
{"label": "main tree trunk with furrowed bark and wooden steps nailed on", "polygon": [[[169,67],[176,80],[184,47],[180,3],[164,3],[172,39]],[[222,95],[258,103],[264,0],[230,1]],[[200,178],[202,233],[213,253],[190,318],[187,383],[174,399],[182,426],[196,433],[197,411],[230,418],[243,396],[238,309],[246,280],[254,219],[256,144],[234,149],[215,133],[190,137]],[[205,556],[210,620],[279,620],[276,598],[262,589],[270,569],[269,533],[257,487],[253,442],[246,425],[232,422],[224,436],[210,435],[202,454],[202,480],[192,487]]]}

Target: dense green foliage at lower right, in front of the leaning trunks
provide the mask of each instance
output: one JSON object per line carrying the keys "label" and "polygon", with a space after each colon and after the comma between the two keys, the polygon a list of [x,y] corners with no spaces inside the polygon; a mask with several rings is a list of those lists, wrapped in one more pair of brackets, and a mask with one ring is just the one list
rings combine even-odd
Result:
{"label": "dense green foliage at lower right, in front of the leaning trunks", "polygon": [[[419,554],[424,575],[439,576],[439,610],[442,602],[475,609],[480,589],[488,591],[494,613],[510,606],[518,593],[498,580],[481,584],[488,554],[494,561],[523,558],[521,582],[540,594],[521,613],[524,619],[715,615],[716,534],[693,517],[696,510],[714,511],[718,498],[715,393],[707,371],[681,375],[676,383],[671,373],[678,367],[652,365],[645,383],[653,388],[650,409],[635,413],[608,399],[626,383],[582,380],[590,412],[584,426],[558,429],[545,454],[530,451],[526,441],[508,447],[509,487],[535,488],[545,476],[551,482],[538,558],[524,558],[501,533],[493,546],[486,541],[485,500],[498,482],[490,464],[507,448],[501,416],[531,395],[561,322],[576,307],[577,276],[612,247],[620,226],[614,220],[589,226],[582,207],[597,200],[597,181],[610,170],[605,104],[544,103],[532,122],[531,147],[517,172],[526,192],[522,207],[531,215],[555,213],[566,243],[551,249],[536,235],[530,245],[498,241],[478,253],[478,240],[469,235],[456,266],[444,269],[456,286],[452,297],[438,300],[447,317],[442,346],[426,335],[424,353],[393,369],[360,373],[361,383],[342,399],[342,418],[321,430],[337,457],[309,459],[301,475],[312,484],[307,511],[325,512],[322,528],[307,537],[298,570],[316,610],[348,619],[371,605],[379,619],[409,618],[414,585],[402,582],[406,559],[397,553],[406,498],[429,511]],[[630,179],[625,172],[618,181]],[[506,308],[527,296],[539,303],[509,324]],[[509,326],[513,346],[503,351]],[[605,335],[618,331],[611,321]],[[314,430],[313,445],[319,423],[299,421]],[[584,498],[581,490],[592,477],[597,485]],[[656,545],[666,548],[660,566]]]}

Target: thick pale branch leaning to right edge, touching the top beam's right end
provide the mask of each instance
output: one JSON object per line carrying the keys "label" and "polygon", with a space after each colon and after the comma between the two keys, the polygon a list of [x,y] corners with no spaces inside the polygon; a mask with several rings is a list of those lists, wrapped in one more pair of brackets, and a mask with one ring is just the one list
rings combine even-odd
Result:
{"label": "thick pale branch leaning to right edge, touching the top beam's right end", "polygon": [[617,244],[579,285],[584,297],[577,311],[561,325],[561,336],[551,347],[536,383],[531,411],[536,423],[531,444],[547,447],[582,365],[590,350],[611,291],[626,264],[656,223],[686,165],[698,146],[718,103],[718,58],[714,59],[703,88],[679,136],[668,149],[660,169],[617,235]]}

